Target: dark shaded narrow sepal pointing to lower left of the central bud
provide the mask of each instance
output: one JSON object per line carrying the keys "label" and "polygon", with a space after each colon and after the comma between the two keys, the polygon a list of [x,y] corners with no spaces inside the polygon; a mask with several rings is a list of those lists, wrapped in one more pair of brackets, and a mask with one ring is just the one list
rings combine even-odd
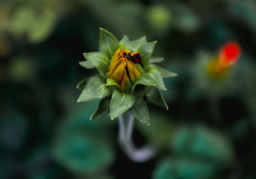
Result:
{"label": "dark shaded narrow sepal pointing to lower left of the central bud", "polygon": [[106,97],[101,99],[98,108],[92,114],[90,119],[98,119],[110,113],[110,98]]}

